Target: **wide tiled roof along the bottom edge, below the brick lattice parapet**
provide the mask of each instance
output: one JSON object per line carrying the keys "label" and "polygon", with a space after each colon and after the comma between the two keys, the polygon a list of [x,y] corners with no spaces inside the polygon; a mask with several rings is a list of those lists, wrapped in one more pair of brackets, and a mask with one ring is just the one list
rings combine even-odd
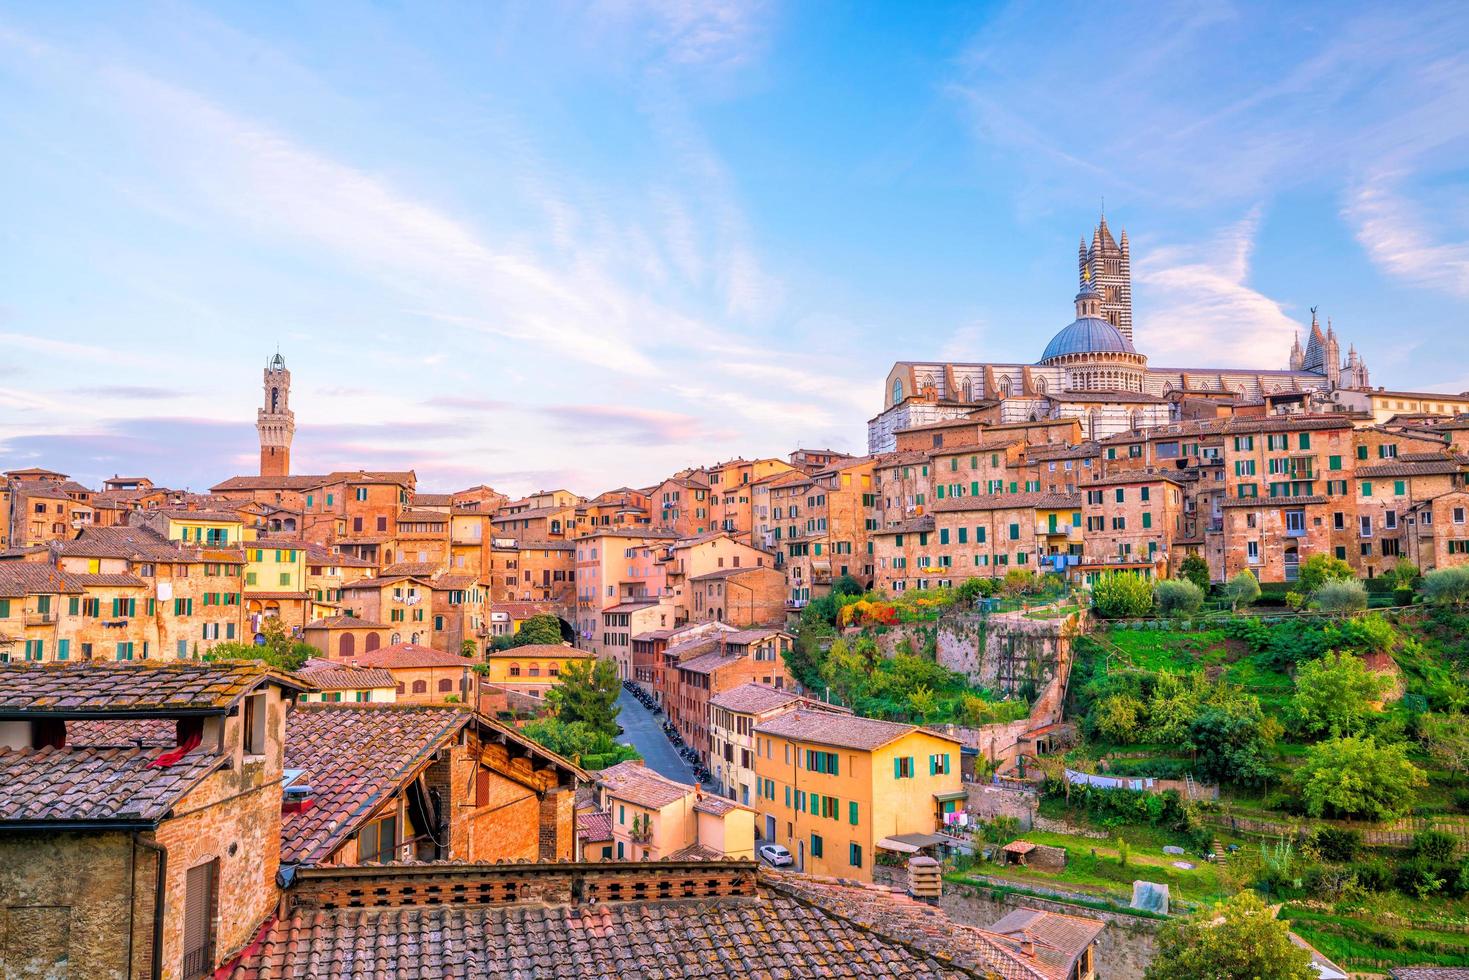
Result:
{"label": "wide tiled roof along the bottom edge, below the brick lattice parapet", "polygon": [[[718,864],[710,864],[720,870]],[[527,865],[527,874],[555,865]],[[391,877],[397,868],[385,868]],[[761,879],[765,880],[764,873]],[[298,907],[272,921],[237,980],[513,977],[1044,977],[984,933],[892,892],[770,876],[752,898],[596,905]],[[373,880],[364,882],[372,887]]]}

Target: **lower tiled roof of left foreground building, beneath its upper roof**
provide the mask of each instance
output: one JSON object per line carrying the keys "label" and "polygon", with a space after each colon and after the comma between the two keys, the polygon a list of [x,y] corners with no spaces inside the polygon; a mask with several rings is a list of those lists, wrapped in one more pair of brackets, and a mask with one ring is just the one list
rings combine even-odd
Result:
{"label": "lower tiled roof of left foreground building, beneath its upper roof", "polygon": [[225,760],[194,749],[150,767],[157,748],[0,749],[0,824],[156,823]]}

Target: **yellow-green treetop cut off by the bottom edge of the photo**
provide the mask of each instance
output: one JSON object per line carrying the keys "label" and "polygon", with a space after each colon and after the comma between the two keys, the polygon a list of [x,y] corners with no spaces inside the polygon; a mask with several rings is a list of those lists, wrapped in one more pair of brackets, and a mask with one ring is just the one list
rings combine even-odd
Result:
{"label": "yellow-green treetop cut off by the bottom edge of the photo", "polygon": [[1168,923],[1143,980],[1315,980],[1310,954],[1255,892]]}

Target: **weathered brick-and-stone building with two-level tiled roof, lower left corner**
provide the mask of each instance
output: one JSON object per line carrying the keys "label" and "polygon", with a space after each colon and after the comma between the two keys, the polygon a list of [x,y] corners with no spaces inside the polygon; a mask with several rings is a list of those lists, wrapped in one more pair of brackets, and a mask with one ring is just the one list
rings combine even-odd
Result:
{"label": "weathered brick-and-stone building with two-level tiled roof, lower left corner", "polygon": [[0,667],[7,973],[204,977],[244,949],[304,689],[254,663]]}

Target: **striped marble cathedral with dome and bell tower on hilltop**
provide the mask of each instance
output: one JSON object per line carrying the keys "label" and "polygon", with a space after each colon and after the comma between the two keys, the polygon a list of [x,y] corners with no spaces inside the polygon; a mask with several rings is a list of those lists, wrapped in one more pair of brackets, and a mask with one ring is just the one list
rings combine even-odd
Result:
{"label": "striped marble cathedral with dome and bell tower on hilltop", "polygon": [[883,386],[883,408],[867,423],[871,454],[896,448],[900,429],[971,414],[993,422],[1074,417],[1087,439],[1168,425],[1185,398],[1259,403],[1281,392],[1328,394],[1366,388],[1356,350],[1341,360],[1335,331],[1312,311],[1306,347],[1297,338],[1287,369],[1156,367],[1133,345],[1131,254],[1103,217],[1077,253],[1075,320],[1033,364],[898,361]]}

